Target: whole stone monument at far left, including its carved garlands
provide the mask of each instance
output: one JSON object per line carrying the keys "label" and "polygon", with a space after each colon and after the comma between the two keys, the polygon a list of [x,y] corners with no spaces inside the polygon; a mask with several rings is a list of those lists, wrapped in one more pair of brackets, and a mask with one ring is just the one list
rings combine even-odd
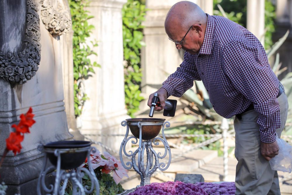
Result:
{"label": "whole stone monument at far left, including its carved garlands", "polygon": [[[9,152],[0,168],[0,182],[8,185],[6,194],[36,194],[43,162],[37,147],[72,138],[63,101],[58,36],[65,33],[70,18],[58,18],[57,13],[50,19],[40,18],[42,3],[0,0],[0,154],[5,150],[5,139],[14,131],[11,125],[19,121],[21,113],[32,107],[36,120],[31,133],[25,135],[21,152],[16,156]],[[50,3],[59,7],[56,1]]]}

